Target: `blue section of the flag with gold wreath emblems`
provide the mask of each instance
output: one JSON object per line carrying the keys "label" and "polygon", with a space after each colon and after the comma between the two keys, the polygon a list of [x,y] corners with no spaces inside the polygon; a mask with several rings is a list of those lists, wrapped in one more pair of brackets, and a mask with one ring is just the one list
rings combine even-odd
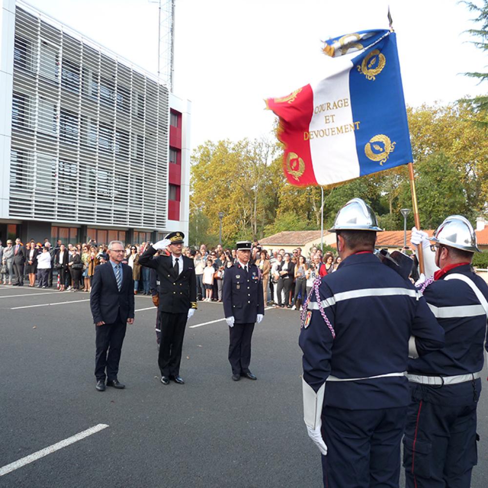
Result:
{"label": "blue section of the flag with gold wreath emblems", "polygon": [[349,91],[360,175],[411,163],[396,34],[389,33],[351,61]]}

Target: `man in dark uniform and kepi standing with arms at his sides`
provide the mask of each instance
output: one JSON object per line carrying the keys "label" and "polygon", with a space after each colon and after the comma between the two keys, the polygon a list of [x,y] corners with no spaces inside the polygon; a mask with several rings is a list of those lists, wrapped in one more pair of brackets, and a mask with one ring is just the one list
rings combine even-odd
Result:
{"label": "man in dark uniform and kepi standing with arms at his sides", "polygon": [[251,243],[239,241],[236,245],[237,259],[225,269],[222,300],[225,321],[229,326],[229,362],[232,379],[241,376],[255,380],[249,371],[251,362],[251,337],[254,324],[263,320],[263,282],[259,269],[250,264]]}

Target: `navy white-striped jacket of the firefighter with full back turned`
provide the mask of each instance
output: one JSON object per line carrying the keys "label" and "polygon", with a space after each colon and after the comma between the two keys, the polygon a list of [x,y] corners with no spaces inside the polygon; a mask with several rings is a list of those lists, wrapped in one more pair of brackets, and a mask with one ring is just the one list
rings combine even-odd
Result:
{"label": "navy white-striped jacket of the firefighter with full back turned", "polygon": [[[410,336],[421,355],[444,345],[444,332],[425,299],[372,253],[348,256],[336,272],[322,278],[319,291],[336,337],[312,293],[310,316],[300,333],[306,383],[317,391],[328,378],[324,406],[406,407],[410,395],[403,373]],[[385,374],[396,376],[371,378]],[[354,378],[358,380],[332,381]]]}

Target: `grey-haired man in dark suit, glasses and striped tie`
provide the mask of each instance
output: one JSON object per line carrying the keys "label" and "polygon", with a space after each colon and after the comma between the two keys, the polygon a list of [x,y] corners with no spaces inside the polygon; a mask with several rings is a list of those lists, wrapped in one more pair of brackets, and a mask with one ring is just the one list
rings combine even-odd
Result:
{"label": "grey-haired man in dark suit, glasses and striped tie", "polygon": [[110,260],[95,268],[90,307],[96,331],[95,376],[97,390],[107,386],[124,388],[119,382],[119,362],[127,324],[134,323],[134,280],[132,269],[122,264],[124,247],[120,241],[108,245]]}

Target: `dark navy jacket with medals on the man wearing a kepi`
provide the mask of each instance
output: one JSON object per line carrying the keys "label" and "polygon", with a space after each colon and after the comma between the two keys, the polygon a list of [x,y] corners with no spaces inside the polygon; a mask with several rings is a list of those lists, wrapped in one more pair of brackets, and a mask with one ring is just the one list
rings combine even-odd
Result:
{"label": "dark navy jacket with medals on the man wearing a kepi", "polygon": [[234,316],[236,324],[254,324],[264,314],[263,282],[256,264],[248,263],[246,273],[237,262],[225,268],[222,289],[225,317]]}

